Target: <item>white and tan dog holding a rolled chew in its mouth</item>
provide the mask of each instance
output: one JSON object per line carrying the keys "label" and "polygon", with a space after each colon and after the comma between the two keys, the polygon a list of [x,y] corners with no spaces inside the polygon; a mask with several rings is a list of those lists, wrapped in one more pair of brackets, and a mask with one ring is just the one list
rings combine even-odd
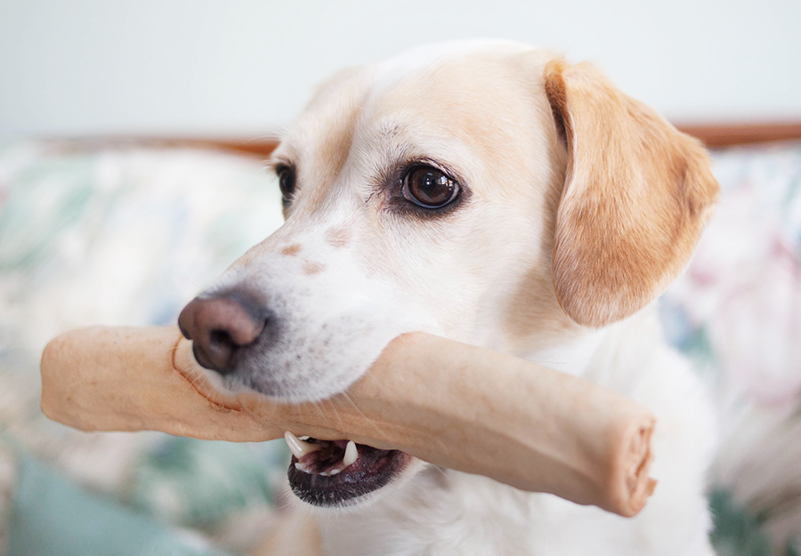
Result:
{"label": "white and tan dog holding a rolled chew in its mouth", "polygon": [[326,399],[421,330],[583,376],[658,423],[659,483],[631,519],[293,437],[289,485],[320,508],[324,552],[714,553],[715,417],[653,304],[718,195],[699,142],[591,65],[470,41],[336,75],[270,164],[285,224],[179,318],[218,388]]}

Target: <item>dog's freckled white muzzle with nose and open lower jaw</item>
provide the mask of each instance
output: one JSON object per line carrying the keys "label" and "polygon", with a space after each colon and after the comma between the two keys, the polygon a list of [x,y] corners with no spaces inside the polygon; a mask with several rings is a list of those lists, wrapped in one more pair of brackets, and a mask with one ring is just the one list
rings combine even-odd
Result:
{"label": "dog's freckled white muzzle with nose and open lower jaw", "polygon": [[[190,302],[179,325],[223,388],[281,402],[327,399],[363,375],[396,336],[417,329],[392,284],[344,249],[351,231],[292,230],[248,252]],[[328,230],[330,231],[330,230]],[[287,434],[289,484],[320,507],[359,504],[407,469],[398,450]]]}

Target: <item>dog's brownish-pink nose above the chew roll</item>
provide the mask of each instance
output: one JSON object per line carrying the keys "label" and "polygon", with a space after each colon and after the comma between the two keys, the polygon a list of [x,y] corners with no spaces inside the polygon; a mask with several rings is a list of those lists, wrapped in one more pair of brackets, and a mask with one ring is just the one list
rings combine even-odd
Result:
{"label": "dog's brownish-pink nose above the chew roll", "polygon": [[193,299],[181,311],[178,326],[192,341],[198,363],[224,375],[236,369],[238,351],[258,339],[266,321],[263,303],[231,290]]}

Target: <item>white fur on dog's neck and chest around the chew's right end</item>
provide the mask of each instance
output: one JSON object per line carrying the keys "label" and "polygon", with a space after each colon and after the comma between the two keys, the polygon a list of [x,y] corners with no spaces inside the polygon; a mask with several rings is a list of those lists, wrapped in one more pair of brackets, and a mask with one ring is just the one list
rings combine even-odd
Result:
{"label": "white fur on dog's neck and chest around the chew's right end", "polygon": [[[326,553],[386,554],[713,554],[704,493],[715,438],[704,388],[687,361],[661,339],[651,310],[593,333],[603,336],[577,375],[622,391],[651,408],[652,476],[643,512],[621,518],[491,479],[429,468],[376,504],[320,520]],[[570,359],[568,351],[562,353]],[[584,358],[579,358],[584,359]]]}

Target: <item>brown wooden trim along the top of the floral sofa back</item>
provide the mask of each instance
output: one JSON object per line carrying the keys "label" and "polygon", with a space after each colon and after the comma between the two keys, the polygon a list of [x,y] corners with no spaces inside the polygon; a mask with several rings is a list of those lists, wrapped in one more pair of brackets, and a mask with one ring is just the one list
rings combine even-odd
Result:
{"label": "brown wooden trim along the top of the floral sofa back", "polygon": [[[697,137],[710,148],[731,147],[771,141],[801,141],[801,122],[760,124],[677,124],[676,127]],[[67,140],[72,148],[101,149],[109,147],[168,147],[223,149],[266,158],[279,141],[275,137],[262,136],[257,139],[245,137],[180,137],[180,136],[128,136]]]}

